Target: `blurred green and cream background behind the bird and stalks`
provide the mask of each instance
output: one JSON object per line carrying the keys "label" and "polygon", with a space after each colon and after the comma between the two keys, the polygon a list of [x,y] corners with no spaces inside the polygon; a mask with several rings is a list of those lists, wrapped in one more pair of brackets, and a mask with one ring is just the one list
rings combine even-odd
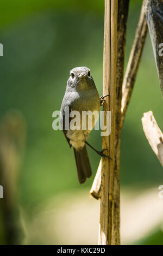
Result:
{"label": "blurred green and cream background behind the bird and stalks", "polygon": [[[130,1],[126,65],[141,3]],[[8,193],[15,197],[10,214],[12,216],[14,209],[22,227],[21,244],[98,242],[99,201],[89,197],[89,190],[100,159],[88,148],[93,177],[80,186],[73,150],[62,131],[52,129],[52,113],[60,110],[73,67],[89,67],[102,95],[103,27],[104,1],[1,0],[0,43],[4,46],[4,56],[0,57],[1,127],[9,122],[12,130],[14,122],[21,122],[21,129],[16,133],[18,138],[23,137],[16,151],[21,160],[17,180],[10,178],[10,168],[5,177],[11,179],[11,183],[16,182],[15,192]],[[163,170],[141,123],[143,112],[152,110],[163,130],[162,106],[148,34],[122,132],[123,244],[163,245],[163,199],[158,197]],[[13,121],[11,116],[16,116],[18,121]],[[1,144],[5,131],[1,129]],[[16,143],[13,141],[12,144]],[[93,131],[89,142],[100,149],[100,131]],[[5,153],[12,166],[15,158]],[[1,166],[3,172],[3,164]],[[0,184],[5,194],[3,178]],[[12,227],[10,215],[10,224],[5,223],[8,211],[7,207],[3,210],[4,203],[5,197],[0,199],[0,244],[8,243],[7,230]]]}

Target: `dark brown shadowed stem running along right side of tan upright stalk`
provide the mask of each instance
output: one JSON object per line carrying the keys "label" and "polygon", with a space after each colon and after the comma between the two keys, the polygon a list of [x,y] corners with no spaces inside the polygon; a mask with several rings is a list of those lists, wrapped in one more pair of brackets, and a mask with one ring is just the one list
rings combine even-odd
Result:
{"label": "dark brown shadowed stem running along right side of tan upright stalk", "polygon": [[116,134],[114,163],[114,192],[112,216],[112,245],[120,245],[120,145],[121,145],[121,102],[126,49],[126,29],[129,0],[118,1],[117,27],[117,77],[116,77]]}

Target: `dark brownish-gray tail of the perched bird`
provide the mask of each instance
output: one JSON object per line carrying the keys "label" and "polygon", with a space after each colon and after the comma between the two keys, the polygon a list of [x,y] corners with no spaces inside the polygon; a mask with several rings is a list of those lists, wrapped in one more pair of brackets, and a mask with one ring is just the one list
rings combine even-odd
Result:
{"label": "dark brownish-gray tail of the perched bird", "polygon": [[82,150],[76,150],[74,148],[74,157],[76,159],[78,180],[80,184],[84,183],[86,178],[90,178],[92,175],[89,156],[87,154],[86,145]]}

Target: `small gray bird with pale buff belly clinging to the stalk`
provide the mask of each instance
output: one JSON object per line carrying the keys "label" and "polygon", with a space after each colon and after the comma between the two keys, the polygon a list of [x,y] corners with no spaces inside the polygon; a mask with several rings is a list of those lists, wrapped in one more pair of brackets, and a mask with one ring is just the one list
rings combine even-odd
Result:
{"label": "small gray bird with pale buff belly clinging to the stalk", "polygon": [[[104,96],[105,97],[105,96]],[[62,100],[61,110],[60,110],[60,125],[68,141],[68,144],[74,148],[74,157],[76,159],[78,179],[80,184],[84,183],[86,178],[91,177],[91,165],[89,157],[86,150],[86,145],[93,148],[86,140],[89,137],[91,129],[95,126],[98,116],[99,108],[104,97],[99,98],[98,91],[95,86],[95,82],[90,74],[90,69],[86,67],[73,68],[70,71],[70,77],[67,81],[67,87],[65,96]],[[71,129],[65,125],[65,107],[69,108],[69,113],[71,111],[79,111],[80,113],[80,127],[78,129]],[[82,111],[96,111],[97,115],[92,116],[92,128],[88,127],[88,120],[91,116],[87,116],[86,121],[82,119]],[[68,115],[68,124],[71,123],[72,118]],[[86,122],[86,123],[84,123]],[[85,129],[82,129],[82,125],[85,124]],[[100,156],[108,157],[103,154],[103,151],[95,150]],[[110,158],[110,157],[109,157]]]}

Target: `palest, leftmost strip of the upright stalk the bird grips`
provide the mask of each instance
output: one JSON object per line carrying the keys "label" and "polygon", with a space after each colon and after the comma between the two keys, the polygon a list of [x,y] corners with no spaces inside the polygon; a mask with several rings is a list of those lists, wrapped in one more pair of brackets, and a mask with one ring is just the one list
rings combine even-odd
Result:
{"label": "palest, leftmost strip of the upright stalk the bird grips", "polygon": [[[104,59],[103,59],[103,95],[110,94],[110,18],[111,0],[105,0],[105,18],[104,18]],[[107,103],[107,104],[106,104]],[[103,110],[109,110],[109,99],[103,104]],[[105,140],[104,140],[105,139]],[[103,147],[109,148],[109,137],[103,139]],[[110,152],[108,152],[109,154]],[[109,159],[104,158],[102,161],[101,175],[101,209],[100,209],[100,230],[99,245],[108,243],[108,205],[109,205]]]}

